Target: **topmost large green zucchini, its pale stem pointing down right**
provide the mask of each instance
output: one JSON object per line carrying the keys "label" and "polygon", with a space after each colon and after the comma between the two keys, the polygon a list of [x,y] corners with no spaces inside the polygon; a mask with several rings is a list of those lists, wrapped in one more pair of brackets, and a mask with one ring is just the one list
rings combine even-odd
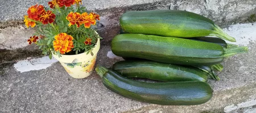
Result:
{"label": "topmost large green zucchini, its pale stem pointing down right", "polygon": [[179,10],[129,11],[120,18],[126,33],[152,34],[167,37],[216,36],[236,42],[218,25],[204,16]]}

